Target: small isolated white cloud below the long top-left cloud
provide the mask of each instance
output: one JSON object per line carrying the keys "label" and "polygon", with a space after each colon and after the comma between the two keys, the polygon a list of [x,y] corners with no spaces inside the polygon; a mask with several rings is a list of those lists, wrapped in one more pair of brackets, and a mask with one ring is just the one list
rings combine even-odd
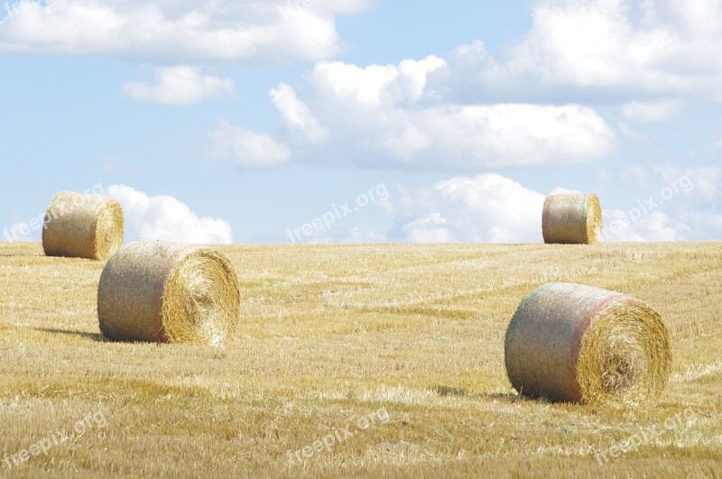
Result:
{"label": "small isolated white cloud below the long top-left cloud", "polygon": [[166,105],[190,105],[234,91],[233,80],[203,75],[185,65],[155,69],[153,84],[131,81],[122,89],[135,101]]}

